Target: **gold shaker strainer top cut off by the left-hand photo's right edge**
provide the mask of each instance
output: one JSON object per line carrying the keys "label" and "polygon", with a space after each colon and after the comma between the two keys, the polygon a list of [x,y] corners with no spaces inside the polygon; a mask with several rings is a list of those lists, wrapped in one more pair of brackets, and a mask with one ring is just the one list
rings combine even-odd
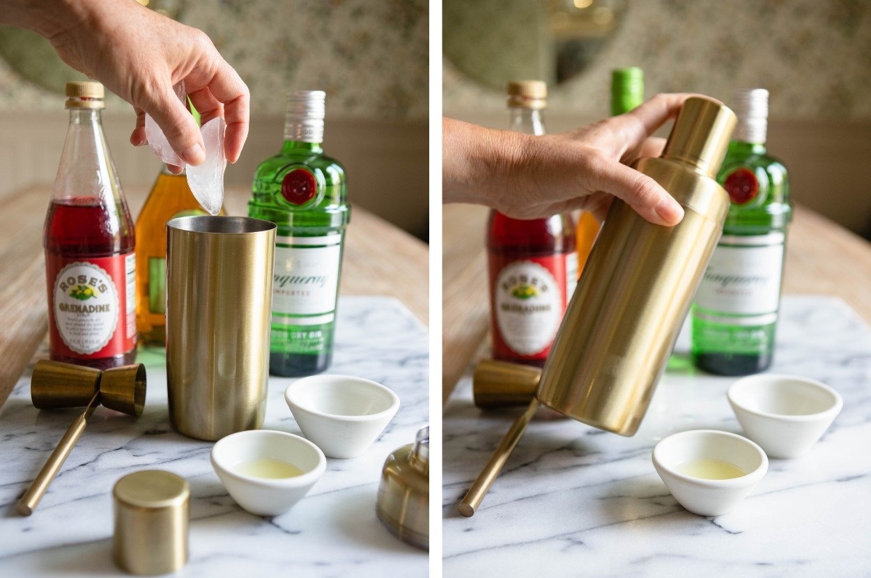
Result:
{"label": "gold shaker strainer top cut off by the left-hand photo's right edge", "polygon": [[384,461],[375,513],[397,538],[429,549],[429,426]]}

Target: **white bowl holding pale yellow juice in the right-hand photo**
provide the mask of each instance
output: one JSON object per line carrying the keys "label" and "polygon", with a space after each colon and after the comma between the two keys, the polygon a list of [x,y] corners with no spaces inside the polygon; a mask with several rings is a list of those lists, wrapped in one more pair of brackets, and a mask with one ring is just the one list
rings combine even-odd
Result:
{"label": "white bowl holding pale yellow juice in the right-hand photo", "polygon": [[[698,460],[715,460],[744,475],[710,479],[687,474]],[[653,448],[653,467],[674,499],[693,514],[719,516],[738,506],[768,471],[762,448],[735,433],[697,429],[674,433]]]}

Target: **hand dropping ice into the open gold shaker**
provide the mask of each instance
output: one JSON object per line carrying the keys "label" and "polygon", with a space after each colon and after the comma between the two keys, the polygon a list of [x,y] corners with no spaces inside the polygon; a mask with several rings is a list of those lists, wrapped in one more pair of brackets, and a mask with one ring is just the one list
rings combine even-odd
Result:
{"label": "hand dropping ice into the open gold shaker", "polygon": [[202,117],[226,120],[224,152],[239,159],[248,134],[250,95],[236,71],[200,30],[179,24],[133,0],[78,0],[51,44],[64,62],[133,105],[130,141],[145,145],[145,112],[189,165],[206,158],[199,127],[172,87],[184,81]]}

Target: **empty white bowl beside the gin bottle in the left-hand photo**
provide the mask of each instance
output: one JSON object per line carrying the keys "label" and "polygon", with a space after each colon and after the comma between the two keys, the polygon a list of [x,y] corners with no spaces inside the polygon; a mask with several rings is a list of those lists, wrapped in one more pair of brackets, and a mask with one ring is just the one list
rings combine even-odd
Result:
{"label": "empty white bowl beside the gin bottle in the left-hand photo", "polygon": [[303,435],[331,458],[364,454],[399,409],[390,389],[349,375],[296,380],[284,399]]}

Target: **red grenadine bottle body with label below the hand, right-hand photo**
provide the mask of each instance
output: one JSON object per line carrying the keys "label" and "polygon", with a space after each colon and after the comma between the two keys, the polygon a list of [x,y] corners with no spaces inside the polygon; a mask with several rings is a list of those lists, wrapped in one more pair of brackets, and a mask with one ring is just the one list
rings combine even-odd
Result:
{"label": "red grenadine bottle body with label below the hand, right-hand photo", "polygon": [[494,359],[544,366],[577,279],[572,220],[569,215],[519,220],[490,212]]}

